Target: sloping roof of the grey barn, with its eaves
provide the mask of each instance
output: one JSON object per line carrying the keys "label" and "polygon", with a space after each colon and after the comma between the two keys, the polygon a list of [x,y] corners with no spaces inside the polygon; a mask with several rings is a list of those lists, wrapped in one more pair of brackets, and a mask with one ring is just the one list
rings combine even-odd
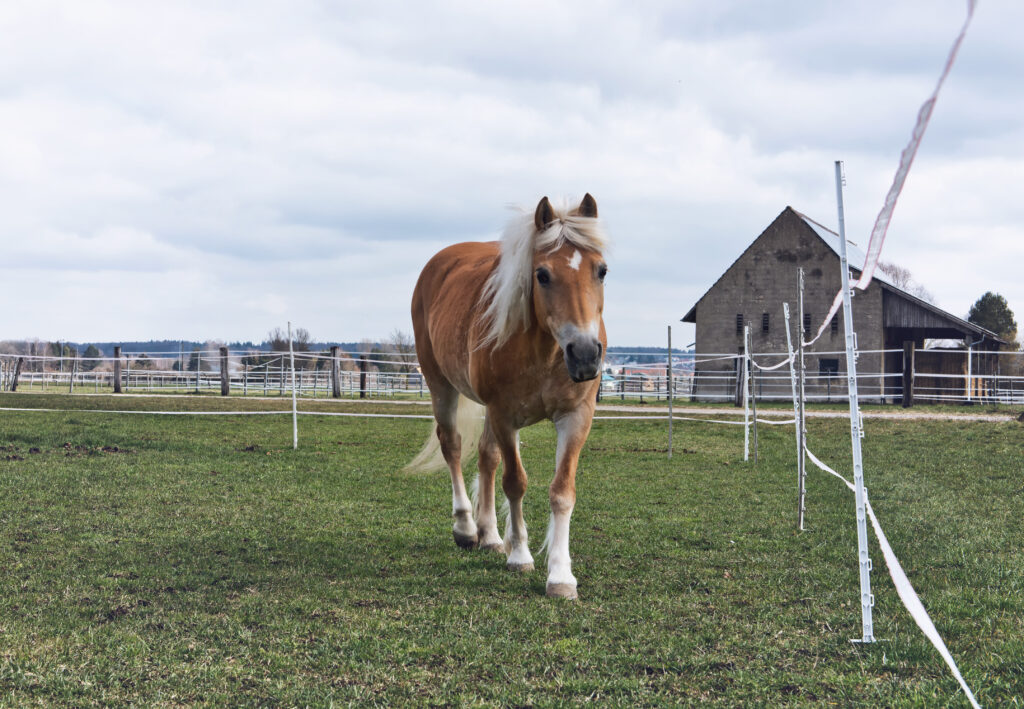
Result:
{"label": "sloping roof of the grey barn, with its eaves", "polygon": [[[833,253],[836,254],[837,258],[839,257],[840,241],[839,241],[839,235],[836,232],[833,232],[827,226],[824,226],[823,224],[815,221],[806,214],[797,211],[793,207],[786,207],[784,210],[782,210],[782,213],[779,214],[779,216],[781,217],[783,214],[785,214],[786,211],[790,211],[796,216],[798,216],[804,224],[806,224],[815,235],[817,235],[817,237],[822,242],[824,242],[824,244],[833,251]],[[760,238],[761,237],[759,236],[758,239]],[[753,248],[754,244],[758,242],[758,239],[755,239],[754,242],[752,242],[751,245],[743,250],[743,252],[736,258],[736,261],[738,261],[739,258],[742,257],[743,253],[746,253],[746,251]],[[858,265],[854,264],[862,265],[864,263],[865,259],[864,252],[860,249],[860,247],[857,246],[857,244],[850,241],[849,239],[847,239],[846,244],[847,244],[846,255],[847,255],[847,260],[850,263],[850,269],[854,273],[855,276],[859,276],[861,268]],[[733,261],[733,264],[736,261]],[[732,265],[730,264],[729,268],[731,267]],[[729,268],[726,268],[725,273],[727,273]],[[723,273],[723,276],[725,275],[725,273]],[[994,332],[986,330],[983,327],[979,327],[974,323],[970,323],[964,320],[963,318],[957,318],[951,312],[947,312],[942,308],[938,307],[937,305],[934,305],[933,303],[930,303],[927,300],[922,300],[918,296],[908,293],[907,291],[903,290],[895,283],[893,283],[892,280],[888,276],[883,274],[881,270],[874,272],[874,277],[872,280],[878,281],[883,291],[889,294],[889,296],[894,301],[896,301],[894,302],[893,306],[887,308],[887,314],[886,314],[887,322],[885,323],[886,327],[926,327],[934,329],[936,331],[946,331],[944,334],[928,335],[928,337],[954,338],[957,336],[976,335],[978,337],[989,339],[994,342],[1000,342],[1000,343],[1002,342],[1002,340],[999,339],[999,336],[996,335]],[[721,281],[721,277],[719,277],[719,279],[715,281],[715,284],[717,284],[718,281]],[[700,302],[700,300],[703,300],[705,296],[707,296],[708,293],[711,292],[711,290],[715,287],[715,284],[712,284],[712,287],[709,288],[705,292],[705,294],[701,295],[699,299],[697,299],[697,302],[693,304],[693,306],[689,309],[689,311],[687,311],[687,314],[683,316],[682,322],[696,323],[697,304]],[[891,319],[893,319],[893,322],[888,322]],[[896,322],[896,321],[907,321],[907,322]],[[913,326],[909,324],[911,321],[914,324]]]}

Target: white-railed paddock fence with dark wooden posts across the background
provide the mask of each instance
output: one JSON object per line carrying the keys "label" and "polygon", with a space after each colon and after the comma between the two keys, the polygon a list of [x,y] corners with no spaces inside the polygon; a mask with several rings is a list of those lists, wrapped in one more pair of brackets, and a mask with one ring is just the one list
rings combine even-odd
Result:
{"label": "white-railed paddock fence with dark wooden posts across the background", "polygon": [[[882,363],[903,350],[862,352],[876,356]],[[645,352],[649,356],[649,352]],[[813,352],[814,358],[830,359],[836,369],[808,371],[807,400],[820,403],[845,402],[846,372],[843,352]],[[963,371],[918,371],[912,373],[913,400],[936,404],[1024,404],[1024,353],[971,352],[964,350],[919,350],[931,359],[945,361],[933,369],[950,369],[949,363]],[[967,366],[965,357],[971,358]],[[771,371],[763,368],[781,364],[777,352],[755,353],[763,363],[751,370],[752,390],[759,401],[790,401],[787,368]],[[670,381],[667,362],[652,365],[616,364],[602,375],[600,399],[621,402],[663,402],[675,400],[700,402],[735,401],[740,385],[743,360],[737,354],[701,354],[699,358],[675,358]],[[931,361],[931,360],[930,360]],[[193,362],[199,371],[157,369],[154,364],[177,362],[177,358],[148,361],[140,368],[139,353],[121,358],[56,358],[0,354],[0,388],[4,391],[68,392],[223,392],[232,395],[274,397],[291,394],[293,378],[287,352],[227,351],[202,352]],[[116,363],[118,363],[116,365]],[[344,352],[296,353],[294,386],[304,398],[380,398],[425,399],[429,395],[422,375],[417,371],[415,354],[375,352],[350,356]],[[859,368],[858,368],[859,369]],[[120,371],[119,371],[120,370]],[[392,370],[392,371],[389,371]],[[393,371],[400,370],[400,371]],[[859,371],[858,388],[862,398],[874,403],[902,401],[905,372]],[[120,386],[116,386],[119,383]]]}

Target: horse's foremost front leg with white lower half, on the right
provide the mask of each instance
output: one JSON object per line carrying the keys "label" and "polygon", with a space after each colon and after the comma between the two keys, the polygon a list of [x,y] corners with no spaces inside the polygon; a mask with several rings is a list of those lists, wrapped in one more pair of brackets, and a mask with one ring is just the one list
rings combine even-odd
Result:
{"label": "horse's foremost front leg with white lower half, on the right", "polygon": [[547,594],[556,598],[575,598],[577,580],[569,558],[569,519],[575,506],[575,471],[593,410],[577,410],[555,419],[558,432],[555,478],[551,482],[551,519],[548,523]]}

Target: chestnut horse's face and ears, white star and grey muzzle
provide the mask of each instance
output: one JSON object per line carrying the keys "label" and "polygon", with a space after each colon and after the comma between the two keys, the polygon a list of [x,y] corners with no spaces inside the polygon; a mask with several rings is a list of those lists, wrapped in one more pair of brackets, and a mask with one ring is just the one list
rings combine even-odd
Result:
{"label": "chestnut horse's face and ears, white star and grey muzzle", "polygon": [[[539,237],[557,227],[556,221],[597,218],[597,203],[587,195],[580,206],[559,216],[545,197],[537,206],[534,223]],[[604,275],[608,266],[600,250],[565,239],[552,248],[534,251],[534,314],[538,324],[557,340],[572,381],[596,378],[604,354]]]}

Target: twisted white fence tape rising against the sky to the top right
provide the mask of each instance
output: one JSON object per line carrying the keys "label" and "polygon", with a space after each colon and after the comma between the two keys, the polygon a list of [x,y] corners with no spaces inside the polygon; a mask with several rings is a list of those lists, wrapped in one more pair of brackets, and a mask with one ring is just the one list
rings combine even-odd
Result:
{"label": "twisted white fence tape rising against the sky to the top right", "polygon": [[[893,211],[896,209],[896,201],[899,199],[900,193],[903,191],[903,183],[906,182],[907,173],[910,172],[910,165],[913,164],[913,159],[918,155],[918,148],[921,147],[921,140],[925,137],[925,130],[928,128],[928,122],[932,119],[932,111],[935,110],[935,101],[938,100],[942,84],[945,83],[946,77],[949,76],[949,72],[953,68],[953,61],[956,60],[956,53],[959,51],[961,43],[967,35],[967,29],[971,25],[971,18],[974,16],[974,8],[976,5],[977,0],[968,0],[967,17],[964,19],[964,26],[961,28],[959,34],[956,36],[956,40],[953,42],[952,48],[949,50],[949,54],[946,57],[946,65],[942,70],[942,75],[939,76],[939,81],[935,85],[935,90],[932,91],[932,95],[929,96],[928,100],[922,103],[921,109],[918,110],[918,121],[914,123],[913,131],[910,133],[910,141],[900,154],[899,166],[896,168],[893,183],[890,185],[889,193],[886,195],[886,200],[882,205],[882,211],[879,212],[878,217],[874,219],[874,226],[871,227],[871,237],[867,243],[867,249],[865,250],[864,264],[860,270],[860,278],[855,284],[853,284],[852,288],[866,290],[867,286],[871,283],[871,279],[874,277],[874,268],[878,266],[879,256],[882,254],[882,245],[886,241],[886,234],[889,231],[889,222],[892,220]],[[840,305],[842,304],[843,293],[840,291],[836,295],[836,299],[833,300],[831,307],[828,308],[828,315],[826,315],[825,319],[821,322],[821,327],[818,328],[818,332],[814,335],[814,339],[810,342],[805,342],[805,347],[811,346],[819,337],[821,337],[821,333],[825,331],[828,323],[831,322],[833,317],[839,311]]]}

